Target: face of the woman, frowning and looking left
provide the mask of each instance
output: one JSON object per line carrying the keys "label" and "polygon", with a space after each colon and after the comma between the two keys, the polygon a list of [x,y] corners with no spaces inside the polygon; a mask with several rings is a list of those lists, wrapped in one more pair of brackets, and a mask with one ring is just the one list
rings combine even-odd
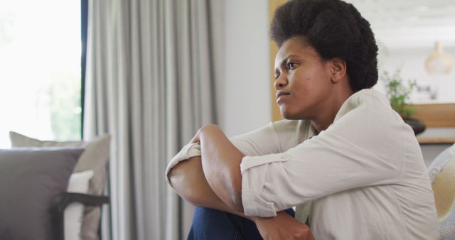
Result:
{"label": "face of the woman, frowning and looking left", "polygon": [[331,98],[331,64],[305,44],[290,38],[275,57],[277,104],[286,119],[316,119]]}

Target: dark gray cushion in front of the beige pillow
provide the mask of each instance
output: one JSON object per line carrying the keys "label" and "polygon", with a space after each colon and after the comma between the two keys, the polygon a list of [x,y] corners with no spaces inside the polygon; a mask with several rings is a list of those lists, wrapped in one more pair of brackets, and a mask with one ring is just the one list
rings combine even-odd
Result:
{"label": "dark gray cushion in front of the beige pillow", "polygon": [[53,239],[51,202],[82,148],[0,149],[0,239]]}

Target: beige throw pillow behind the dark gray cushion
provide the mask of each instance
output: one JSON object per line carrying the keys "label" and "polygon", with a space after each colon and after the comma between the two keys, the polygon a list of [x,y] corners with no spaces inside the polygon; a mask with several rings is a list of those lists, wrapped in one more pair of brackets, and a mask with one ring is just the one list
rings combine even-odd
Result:
{"label": "beige throw pillow behind the dark gray cushion", "polygon": [[[75,165],[74,173],[93,170],[95,175],[90,179],[88,194],[101,195],[105,182],[106,164],[109,158],[110,135],[105,134],[90,141],[41,141],[24,136],[14,131],[9,132],[11,146],[14,147],[50,147],[50,146],[79,146],[85,148]],[[85,240],[98,238],[100,224],[100,207],[86,206],[82,220],[81,237]]]}

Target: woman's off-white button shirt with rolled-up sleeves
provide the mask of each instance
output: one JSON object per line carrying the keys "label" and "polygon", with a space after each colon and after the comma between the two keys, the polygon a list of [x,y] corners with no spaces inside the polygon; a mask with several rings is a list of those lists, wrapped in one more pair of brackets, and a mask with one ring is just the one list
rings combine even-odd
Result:
{"label": "woman's off-white button shirt with rolled-up sleeves", "polygon": [[437,239],[422,152],[383,94],[353,94],[333,124],[311,136],[309,121],[284,120],[231,139],[246,155],[240,165],[246,215],[272,217],[297,206],[304,222],[302,209],[312,202],[316,239]]}

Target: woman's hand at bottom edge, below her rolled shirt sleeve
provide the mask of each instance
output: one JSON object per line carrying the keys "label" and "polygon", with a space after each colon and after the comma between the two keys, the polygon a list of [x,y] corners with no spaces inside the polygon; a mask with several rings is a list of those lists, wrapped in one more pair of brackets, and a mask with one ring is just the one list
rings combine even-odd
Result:
{"label": "woman's hand at bottom edge, below her rolled shirt sleeve", "polygon": [[285,212],[276,217],[255,217],[257,229],[264,240],[314,240],[310,228]]}

